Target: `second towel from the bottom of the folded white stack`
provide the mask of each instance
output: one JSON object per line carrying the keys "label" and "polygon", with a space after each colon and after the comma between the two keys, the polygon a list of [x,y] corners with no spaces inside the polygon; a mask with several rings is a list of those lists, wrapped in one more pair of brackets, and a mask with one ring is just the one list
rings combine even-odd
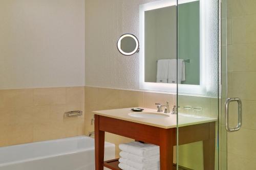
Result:
{"label": "second towel from the bottom of the folded white stack", "polygon": [[120,157],[129,159],[131,161],[137,162],[137,163],[151,163],[151,162],[159,162],[160,161],[160,155],[153,155],[148,157],[142,157],[135,154],[131,154],[128,152],[121,151],[119,153]]}

